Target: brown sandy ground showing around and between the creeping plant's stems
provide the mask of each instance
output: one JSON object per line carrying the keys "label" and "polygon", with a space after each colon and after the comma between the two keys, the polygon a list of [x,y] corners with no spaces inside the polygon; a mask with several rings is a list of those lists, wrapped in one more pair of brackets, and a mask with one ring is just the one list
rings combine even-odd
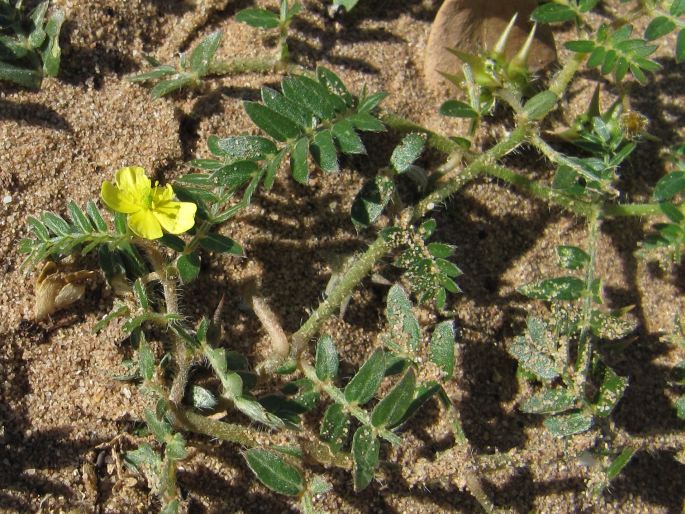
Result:
{"label": "brown sandy ground showing around and between the creeping plant's stems", "polygon": [[[321,2],[306,1],[307,13],[294,24],[293,53],[305,65],[321,63],[352,89],[384,89],[386,108],[443,131],[456,127],[437,115],[439,100],[425,90],[422,57],[438,2],[361,2],[343,23],[325,16]],[[117,472],[117,456],[135,442],[143,399],[134,386],[113,380],[131,349],[112,327],[99,335],[93,325],[108,311],[112,296],[98,283],[76,308],[47,323],[32,321],[33,277],[19,270],[17,241],[27,215],[55,209],[68,200],[84,203],[124,165],[142,165],[160,180],[186,171],[184,162],[207,155],[210,134],[254,131],[242,101],[279,77],[244,75],[211,80],[206,91],[183,92],[152,102],[148,92],[123,80],[141,67],[142,54],[169,59],[171,38],[192,45],[221,28],[219,57],[256,55],[272,42],[232,20],[250,2],[229,2],[187,38],[177,32],[191,7],[156,0],[55,0],[67,12],[60,78],[40,92],[0,85],[0,510],[3,512],[153,512],[157,507],[142,479]],[[268,2],[267,2],[268,4]],[[366,4],[366,5],[364,5]],[[565,37],[558,34],[560,40]],[[183,48],[184,49],[184,48]],[[160,53],[162,52],[162,53]],[[683,136],[683,76],[668,53],[648,88],[630,99],[647,115],[649,130],[665,145]],[[594,75],[584,72],[583,75]],[[569,112],[587,105],[591,90],[580,80],[572,88]],[[611,86],[606,88],[611,91]],[[497,132],[495,131],[495,134]],[[306,186],[282,173],[274,189],[225,233],[240,241],[247,257],[214,259],[204,278],[184,291],[186,312],[211,312],[227,296],[225,342],[259,356],[266,336],[253,314],[241,307],[241,291],[257,278],[288,331],[314,307],[330,275],[332,257],[364,247],[372,234],[356,234],[349,208],[365,177],[387,163],[395,135],[367,138],[372,154],[348,159],[337,176],[315,174]],[[649,185],[664,173],[659,145],[641,147],[623,171],[628,198],[648,198]],[[428,156],[423,164],[436,164]],[[537,156],[507,158],[536,177],[550,171]],[[500,469],[486,472],[486,489],[496,504],[515,512],[663,512],[683,509],[685,466],[683,422],[674,414],[675,389],[669,369],[682,351],[660,342],[683,308],[682,268],[663,272],[637,260],[644,236],[640,220],[605,224],[599,269],[610,307],[635,305],[635,337],[622,351],[601,348],[611,365],[630,378],[616,414],[619,442],[637,440],[639,454],[603,498],[585,493],[587,470],[567,457],[573,445],[549,436],[541,419],[519,413],[521,396],[515,363],[506,345],[520,331],[526,312],[539,309],[514,288],[556,272],[554,246],[583,243],[584,227],[557,209],[479,181],[437,214],[440,240],[457,245],[455,261],[465,274],[464,293],[450,299],[460,328],[459,371],[449,392],[464,418],[474,449],[483,455],[509,453]],[[387,266],[378,271],[387,271]],[[335,335],[352,372],[374,341],[385,289],[365,282],[344,320],[333,319]],[[425,319],[434,313],[422,312]],[[307,421],[314,426],[314,418]],[[123,435],[122,435],[123,434]],[[120,436],[120,437],[118,437]],[[331,512],[477,512],[470,496],[435,475],[437,452],[450,445],[437,404],[409,429],[403,445],[387,453],[389,479],[354,495],[349,475],[333,475],[334,491],[319,506]],[[254,480],[239,448],[190,437],[191,458],[179,481],[190,511],[291,512],[294,506]],[[460,462],[442,474],[459,473]]]}

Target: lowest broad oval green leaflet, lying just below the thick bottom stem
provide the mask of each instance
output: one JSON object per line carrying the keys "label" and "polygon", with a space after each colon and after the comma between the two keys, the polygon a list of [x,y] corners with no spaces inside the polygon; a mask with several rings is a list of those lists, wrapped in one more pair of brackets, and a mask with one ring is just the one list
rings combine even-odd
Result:
{"label": "lowest broad oval green leaflet, lying just below the thick bottom stem", "polygon": [[255,476],[272,491],[286,496],[297,496],[304,491],[304,478],[300,470],[277,453],[250,448],[244,455]]}

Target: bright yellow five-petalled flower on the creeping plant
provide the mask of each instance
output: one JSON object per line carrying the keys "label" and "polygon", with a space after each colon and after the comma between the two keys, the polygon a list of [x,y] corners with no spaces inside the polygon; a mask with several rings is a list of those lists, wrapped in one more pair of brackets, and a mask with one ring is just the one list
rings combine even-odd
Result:
{"label": "bright yellow five-petalled flower on the creeping plant", "polygon": [[100,196],[110,209],[128,214],[128,226],[145,239],[162,237],[162,228],[181,234],[195,224],[197,206],[172,200],[170,185],[152,187],[145,170],[138,166],[117,171],[114,184],[105,181]]}

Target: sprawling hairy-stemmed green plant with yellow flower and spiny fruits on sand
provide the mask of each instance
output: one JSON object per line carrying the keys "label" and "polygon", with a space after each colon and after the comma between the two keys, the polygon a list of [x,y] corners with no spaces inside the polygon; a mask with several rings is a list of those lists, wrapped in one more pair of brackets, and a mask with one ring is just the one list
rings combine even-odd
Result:
{"label": "sprawling hairy-stemmed green plant with yellow flower and spiny fruits on sand", "polygon": [[[685,2],[622,1],[626,5],[605,11],[599,25],[590,17],[598,3],[558,0],[534,10],[532,20],[539,24],[572,23],[577,30],[577,39],[565,44],[560,68],[546,83],[528,70],[535,28],[515,49],[516,56],[505,58],[515,19],[492,49],[478,54],[453,49],[461,69],[440,71],[463,95],[444,103],[440,112],[469,119],[465,134],[440,135],[387,113],[385,93],[364,89],[353,94],[328,68],[292,73],[281,67],[286,76],[280,88],[262,87],[259,101],[244,103],[261,135],[209,137],[212,158],[190,161],[193,171],[173,184],[153,184],[142,168],[126,167],[103,183],[100,206],[70,202],[67,218],[53,212],[29,218],[31,238],[21,248],[27,270],[42,266],[38,317],[78,301],[83,282],[94,273],[59,271],[67,259],[72,259],[70,269],[78,269],[73,261],[95,255],[116,293],[97,329],[121,318],[136,348],[126,378],[150,397],[143,414],[150,443],[128,452],[127,463],[147,478],[162,512],[183,510],[177,467],[187,455],[188,433],[236,443],[261,483],[293,497],[303,512],[315,512],[315,497],[331,488],[326,469],[348,470],[355,491],[382,478],[387,449],[401,444],[406,422],[431,398],[440,402],[453,431],[453,446],[444,455],[458,453],[470,463],[462,476],[450,480],[465,487],[484,511],[497,510],[482,485],[480,461],[462,429],[458,406],[444,388],[457,365],[458,322],[448,306],[455,298],[451,295],[460,292],[462,271],[452,260],[454,248],[432,237],[437,223],[430,218],[446,199],[482,177],[494,177],[586,220],[583,244],[556,248],[559,273],[519,285],[521,295],[540,304],[508,351],[527,391],[520,399],[523,412],[539,415],[558,438],[593,434],[584,439],[582,452],[569,450],[570,459],[590,463],[589,490],[601,494],[619,475],[639,450],[615,444],[611,422],[630,380],[611,368],[598,347],[624,339],[635,326],[627,316],[631,306],[604,306],[596,266],[602,252],[599,234],[611,218],[653,217],[654,232],[639,249],[641,255],[680,261],[685,243],[682,149],[674,151],[674,170],[654,185],[653,202],[626,203],[620,173],[637,145],[650,137],[647,120],[622,96],[605,108],[598,85],[587,111],[571,126],[551,133],[545,122],[564,105],[583,68],[597,69],[619,90],[629,76],[647,83],[649,73],[660,68],[650,58],[655,41],[675,29],[681,30],[675,54],[682,60]],[[338,4],[349,10],[356,2]],[[256,8],[238,13],[239,21],[280,31],[279,54],[269,66],[289,59],[285,37],[298,9],[282,1],[280,14]],[[651,20],[647,30],[636,36],[633,23],[645,17]],[[153,97],[195,85],[221,68],[214,61],[220,37],[220,32],[211,34],[182,56],[178,68],[151,61],[152,71],[131,80],[158,81]],[[475,136],[496,120],[496,111],[508,113],[513,126],[487,148],[475,150]],[[331,277],[324,299],[293,334],[283,331],[258,293],[252,296],[253,311],[271,338],[268,358],[249,362],[226,347],[221,304],[207,305],[206,315],[197,320],[183,313],[179,287],[197,279],[203,259],[243,255],[240,243],[225,234],[255,195],[276,180],[288,180],[284,170],[301,184],[312,173],[337,173],[343,156],[369,151],[364,132],[386,130],[403,138],[387,166],[363,185],[350,212],[351,232],[373,234],[374,241]],[[444,154],[436,169],[416,164],[426,147]],[[554,171],[551,181],[504,164],[505,156],[524,147],[546,158]],[[382,335],[356,372],[341,376],[336,341],[321,333],[322,326],[344,308],[365,277],[379,266],[384,269],[387,257],[401,274],[395,273],[399,278],[389,284]],[[415,303],[434,309],[440,321],[420,323]],[[670,338],[674,344],[682,339],[682,334]],[[676,407],[682,417],[682,397]],[[236,411],[250,423],[238,422]],[[318,415],[315,433],[303,423],[305,415]]]}

